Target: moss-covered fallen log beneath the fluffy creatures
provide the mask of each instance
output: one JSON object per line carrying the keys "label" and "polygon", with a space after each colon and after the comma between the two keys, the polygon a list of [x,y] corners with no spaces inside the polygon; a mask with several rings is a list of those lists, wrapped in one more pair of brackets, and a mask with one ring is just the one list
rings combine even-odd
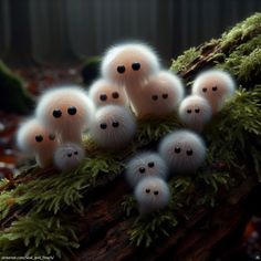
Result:
{"label": "moss-covered fallen log beneath the fluffy creatures", "polygon": [[230,71],[241,88],[202,134],[209,147],[205,166],[169,180],[166,209],[139,217],[123,171],[129,156],[157,148],[164,135],[182,127],[176,115],[140,121],[135,140],[121,153],[106,153],[86,136],[88,157],[73,173],[31,166],[14,184],[2,180],[0,257],[213,260],[212,250],[246,222],[248,196],[261,180],[260,24],[255,14],[174,61],[171,70],[188,85],[215,65]]}

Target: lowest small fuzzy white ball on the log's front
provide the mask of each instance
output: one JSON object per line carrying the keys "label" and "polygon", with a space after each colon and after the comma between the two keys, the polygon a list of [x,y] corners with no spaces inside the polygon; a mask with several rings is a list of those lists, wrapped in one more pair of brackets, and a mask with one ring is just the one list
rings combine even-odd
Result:
{"label": "lowest small fuzzy white ball on the log's front", "polygon": [[135,198],[140,213],[149,213],[166,207],[170,199],[167,182],[157,177],[143,178],[135,188]]}

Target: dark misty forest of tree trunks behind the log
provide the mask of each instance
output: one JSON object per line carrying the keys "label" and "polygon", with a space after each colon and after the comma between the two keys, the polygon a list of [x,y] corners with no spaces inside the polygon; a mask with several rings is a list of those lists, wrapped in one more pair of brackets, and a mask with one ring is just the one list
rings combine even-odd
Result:
{"label": "dark misty forest of tree trunks behind the log", "polygon": [[135,39],[169,61],[257,11],[260,0],[0,0],[0,58],[66,64]]}

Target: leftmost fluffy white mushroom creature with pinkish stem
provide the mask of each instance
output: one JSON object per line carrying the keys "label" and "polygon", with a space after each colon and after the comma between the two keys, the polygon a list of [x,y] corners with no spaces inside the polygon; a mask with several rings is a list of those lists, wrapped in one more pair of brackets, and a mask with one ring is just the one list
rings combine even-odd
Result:
{"label": "leftmost fluffy white mushroom creature with pinkish stem", "polygon": [[59,142],[44,125],[31,118],[18,128],[17,145],[22,152],[34,155],[38,165],[45,168],[52,164],[53,153]]}

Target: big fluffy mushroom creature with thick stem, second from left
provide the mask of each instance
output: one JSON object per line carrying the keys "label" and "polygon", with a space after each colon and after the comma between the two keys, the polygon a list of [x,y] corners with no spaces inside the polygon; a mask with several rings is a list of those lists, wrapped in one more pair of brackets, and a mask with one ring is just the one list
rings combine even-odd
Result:
{"label": "big fluffy mushroom creature with thick stem, second from left", "polygon": [[76,86],[46,91],[39,100],[35,115],[41,123],[59,134],[61,142],[82,143],[82,133],[90,127],[93,102]]}

